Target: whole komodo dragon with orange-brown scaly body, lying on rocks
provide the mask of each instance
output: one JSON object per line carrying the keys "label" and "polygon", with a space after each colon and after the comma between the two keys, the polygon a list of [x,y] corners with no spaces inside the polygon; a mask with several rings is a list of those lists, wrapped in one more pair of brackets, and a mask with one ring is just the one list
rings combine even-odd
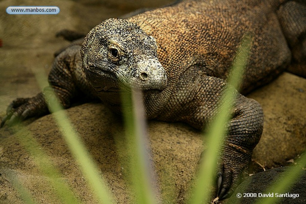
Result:
{"label": "whole komodo dragon with orange-brown scaly body, lying on rocks", "polygon": [[[227,86],[233,58],[245,32],[253,43],[241,94],[270,82],[306,53],[303,1],[182,1],[127,20],[108,19],[84,42],[54,60],[50,86],[33,98],[17,98],[8,121],[48,113],[44,95],[53,89],[68,108],[82,94],[120,112],[120,87],[143,91],[148,119],[183,121],[203,129],[211,122]],[[247,167],[263,130],[263,111],[237,94],[218,163],[217,196],[229,197]]]}

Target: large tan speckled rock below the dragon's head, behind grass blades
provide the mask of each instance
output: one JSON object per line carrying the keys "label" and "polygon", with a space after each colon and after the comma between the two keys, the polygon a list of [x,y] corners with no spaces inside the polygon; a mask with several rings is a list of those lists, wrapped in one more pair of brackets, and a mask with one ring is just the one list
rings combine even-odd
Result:
{"label": "large tan speckled rock below the dragon's head, behind grass blades", "polygon": [[[135,203],[127,179],[127,153],[121,119],[103,104],[87,103],[64,110],[98,166],[117,203]],[[75,158],[71,155],[53,116],[41,117],[27,126],[28,131],[11,135],[0,130],[0,203],[24,203],[13,185],[17,178],[39,203],[61,203],[50,187],[49,177],[42,173],[28,148],[32,135],[40,149],[62,174],[61,180],[73,189],[84,203],[98,203],[88,187]],[[202,134],[181,123],[150,121],[148,124],[158,203],[183,203],[192,183],[202,151]],[[24,139],[27,138],[27,139]],[[16,180],[16,179],[15,179]],[[43,190],[42,190],[43,189]],[[56,195],[56,194],[55,194]],[[5,198],[5,199],[4,199]]]}

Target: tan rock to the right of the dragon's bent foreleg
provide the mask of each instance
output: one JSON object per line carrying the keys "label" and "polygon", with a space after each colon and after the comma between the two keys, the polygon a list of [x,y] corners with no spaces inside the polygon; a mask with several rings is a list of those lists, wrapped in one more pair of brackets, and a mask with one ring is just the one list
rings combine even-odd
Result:
{"label": "tan rock to the right of the dragon's bent foreleg", "polygon": [[306,148],[306,79],[285,72],[248,97],[264,113],[263,134],[252,159],[268,169],[286,165]]}

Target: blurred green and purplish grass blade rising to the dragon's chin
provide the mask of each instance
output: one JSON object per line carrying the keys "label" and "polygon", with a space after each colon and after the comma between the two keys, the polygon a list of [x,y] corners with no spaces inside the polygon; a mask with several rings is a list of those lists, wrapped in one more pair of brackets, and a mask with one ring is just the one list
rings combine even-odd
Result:
{"label": "blurred green and purplish grass blade rising to the dragon's chin", "polygon": [[122,93],[125,135],[129,158],[130,180],[136,203],[155,204],[155,195],[150,182],[150,167],[145,149],[147,139],[144,106],[141,92]]}

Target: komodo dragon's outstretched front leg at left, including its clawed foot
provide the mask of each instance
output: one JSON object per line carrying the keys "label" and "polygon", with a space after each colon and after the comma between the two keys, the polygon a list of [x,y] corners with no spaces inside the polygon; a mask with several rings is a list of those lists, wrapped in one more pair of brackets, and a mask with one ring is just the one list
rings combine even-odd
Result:
{"label": "komodo dragon's outstretched front leg at left, including its clawed foot", "polygon": [[[59,54],[53,63],[48,76],[49,86],[32,98],[17,98],[7,108],[7,115],[1,121],[0,127],[6,122],[13,124],[26,118],[41,116],[49,112],[46,98],[52,100],[51,92],[54,91],[59,102],[64,108],[70,106],[71,100],[76,94],[71,68],[78,57],[80,46],[71,46]],[[80,57],[80,56],[79,56]]]}

